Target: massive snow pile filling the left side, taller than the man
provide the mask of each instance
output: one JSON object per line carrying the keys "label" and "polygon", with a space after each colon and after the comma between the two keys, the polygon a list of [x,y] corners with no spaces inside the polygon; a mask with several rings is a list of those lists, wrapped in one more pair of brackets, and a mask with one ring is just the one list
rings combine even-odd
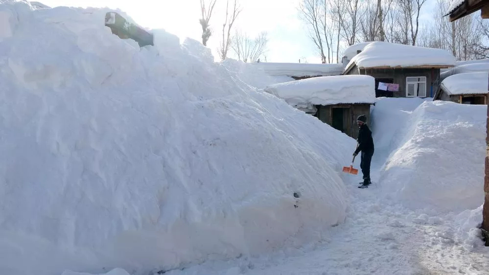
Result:
{"label": "massive snow pile filling the left side, taller than the man", "polygon": [[169,269],[344,220],[352,138],[105,12],[0,4],[0,274]]}

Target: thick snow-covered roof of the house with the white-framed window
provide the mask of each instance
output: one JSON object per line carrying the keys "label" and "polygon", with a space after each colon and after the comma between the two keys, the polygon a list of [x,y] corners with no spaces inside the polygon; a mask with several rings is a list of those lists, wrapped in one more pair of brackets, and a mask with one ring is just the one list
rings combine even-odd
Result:
{"label": "thick snow-covered roof of the house with the white-framed window", "polygon": [[350,60],[345,71],[353,65],[358,68],[448,68],[455,66],[455,62],[455,57],[444,49],[372,42]]}

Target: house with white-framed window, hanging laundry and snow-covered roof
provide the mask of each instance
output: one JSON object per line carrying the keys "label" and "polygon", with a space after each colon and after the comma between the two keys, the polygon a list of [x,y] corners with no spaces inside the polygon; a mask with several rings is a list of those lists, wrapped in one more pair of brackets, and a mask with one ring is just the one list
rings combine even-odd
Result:
{"label": "house with white-framed window, hanging laundry and snow-covered roof", "polygon": [[443,49],[378,41],[360,48],[354,56],[345,56],[343,74],[373,76],[376,97],[432,97],[438,90],[440,69],[456,64],[455,57]]}

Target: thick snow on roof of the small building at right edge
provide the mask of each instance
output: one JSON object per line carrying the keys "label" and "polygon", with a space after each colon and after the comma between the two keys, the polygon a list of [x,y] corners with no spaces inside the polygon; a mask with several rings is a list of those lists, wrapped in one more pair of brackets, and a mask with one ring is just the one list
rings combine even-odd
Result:
{"label": "thick snow on roof of the small building at right edge", "polygon": [[451,75],[442,81],[441,88],[449,95],[484,94],[488,92],[488,72],[466,72]]}

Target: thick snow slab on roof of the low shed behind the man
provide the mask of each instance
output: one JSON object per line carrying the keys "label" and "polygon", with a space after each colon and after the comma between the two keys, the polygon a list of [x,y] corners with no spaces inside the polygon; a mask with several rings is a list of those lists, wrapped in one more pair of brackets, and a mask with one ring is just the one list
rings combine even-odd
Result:
{"label": "thick snow slab on roof of the low shed behind the man", "polygon": [[375,78],[369,75],[313,77],[270,85],[264,90],[299,109],[311,105],[375,102]]}

